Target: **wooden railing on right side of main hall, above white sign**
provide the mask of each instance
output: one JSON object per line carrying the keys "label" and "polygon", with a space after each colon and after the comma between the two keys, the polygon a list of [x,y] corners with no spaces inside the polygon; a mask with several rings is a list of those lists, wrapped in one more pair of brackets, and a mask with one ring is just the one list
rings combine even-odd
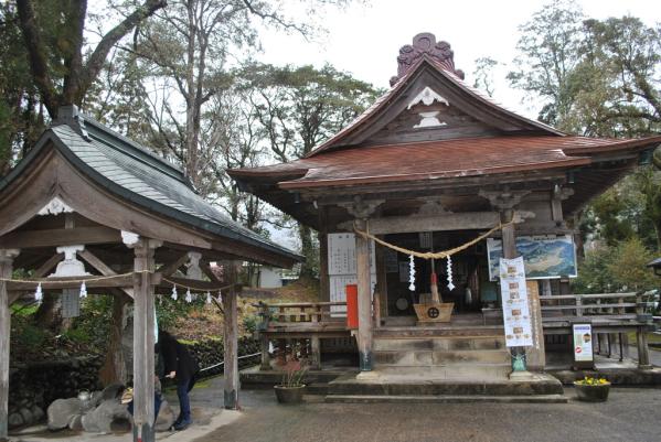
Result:
{"label": "wooden railing on right side of main hall, above white sign", "polygon": [[642,293],[558,294],[540,297],[543,322],[597,316],[626,321],[639,317],[652,302]]}

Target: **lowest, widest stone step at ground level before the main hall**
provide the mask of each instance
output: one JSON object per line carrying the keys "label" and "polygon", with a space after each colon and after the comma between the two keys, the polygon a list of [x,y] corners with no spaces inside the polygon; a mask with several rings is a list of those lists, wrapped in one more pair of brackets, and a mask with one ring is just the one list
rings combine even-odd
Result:
{"label": "lowest, widest stone step at ground level before the main hall", "polygon": [[567,403],[562,395],[533,396],[484,396],[484,395],[436,395],[436,396],[380,396],[380,395],[332,395],[326,397],[328,403]]}

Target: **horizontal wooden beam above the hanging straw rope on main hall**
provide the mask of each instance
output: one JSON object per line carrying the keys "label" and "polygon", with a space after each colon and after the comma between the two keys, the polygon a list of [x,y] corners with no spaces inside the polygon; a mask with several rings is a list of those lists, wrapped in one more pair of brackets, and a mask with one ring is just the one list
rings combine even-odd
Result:
{"label": "horizontal wooden beam above the hanging straw rope on main hall", "polygon": [[[465,212],[439,216],[388,216],[370,219],[372,235],[407,234],[418,231],[444,231],[490,229],[497,226],[497,212]],[[340,224],[340,228],[353,231],[353,220]]]}

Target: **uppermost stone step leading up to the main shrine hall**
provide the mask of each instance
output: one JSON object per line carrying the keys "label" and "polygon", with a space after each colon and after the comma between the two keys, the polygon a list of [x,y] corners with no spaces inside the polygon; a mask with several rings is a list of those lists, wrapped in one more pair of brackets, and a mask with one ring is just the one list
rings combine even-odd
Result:
{"label": "uppermost stone step leading up to the main shrine hall", "polygon": [[505,348],[504,336],[377,337],[374,351],[461,351]]}

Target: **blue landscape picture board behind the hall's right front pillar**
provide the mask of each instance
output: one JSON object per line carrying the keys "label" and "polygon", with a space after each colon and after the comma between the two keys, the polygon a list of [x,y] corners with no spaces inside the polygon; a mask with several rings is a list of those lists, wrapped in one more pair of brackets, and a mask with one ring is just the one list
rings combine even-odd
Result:
{"label": "blue landscape picture board behind the hall's right front pillar", "polygon": [[[502,240],[488,238],[489,279],[499,276]],[[541,235],[516,237],[516,251],[523,257],[527,279],[576,278],[576,249],[572,235]]]}

